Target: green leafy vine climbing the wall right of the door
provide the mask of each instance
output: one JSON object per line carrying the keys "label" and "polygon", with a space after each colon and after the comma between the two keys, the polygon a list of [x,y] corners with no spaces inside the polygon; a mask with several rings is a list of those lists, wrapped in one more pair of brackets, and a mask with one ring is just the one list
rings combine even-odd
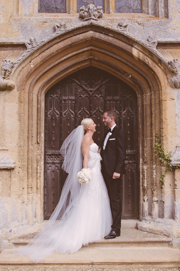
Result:
{"label": "green leafy vine climbing the wall right of the door", "polygon": [[159,138],[158,134],[156,134],[156,143],[155,143],[155,147],[154,147],[154,152],[156,153],[156,155],[159,156],[159,160],[166,167],[166,170],[165,170],[164,174],[162,174],[162,176],[161,176],[161,178],[159,180],[160,184],[164,184],[164,177],[166,176],[168,170],[173,171],[173,169],[175,169],[175,168],[180,170],[180,164],[177,164],[176,166],[173,166],[170,163],[170,158],[171,158],[172,151],[170,151],[168,154],[165,153],[164,147],[162,147],[162,145],[161,145],[161,139]]}

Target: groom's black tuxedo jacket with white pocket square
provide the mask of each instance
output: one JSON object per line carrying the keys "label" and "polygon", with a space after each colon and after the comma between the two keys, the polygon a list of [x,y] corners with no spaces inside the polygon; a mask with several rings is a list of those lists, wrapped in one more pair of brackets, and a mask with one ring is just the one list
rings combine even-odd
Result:
{"label": "groom's black tuxedo jacket with white pocket square", "polygon": [[104,140],[107,136],[104,134],[101,145],[102,163],[104,163],[107,173],[113,176],[114,172],[125,173],[125,158],[126,158],[126,132],[117,125],[113,128],[112,135],[109,137],[106,147],[103,150]]}

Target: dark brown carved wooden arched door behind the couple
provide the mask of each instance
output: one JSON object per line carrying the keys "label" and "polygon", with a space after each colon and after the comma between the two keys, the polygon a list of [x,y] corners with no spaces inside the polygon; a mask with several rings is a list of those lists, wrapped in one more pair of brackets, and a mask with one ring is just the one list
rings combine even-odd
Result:
{"label": "dark brown carved wooden arched door behind the couple", "polygon": [[55,84],[45,96],[44,219],[55,209],[66,179],[59,153],[62,142],[91,117],[97,124],[93,135],[101,145],[105,127],[102,112],[115,109],[116,124],[127,132],[126,175],[122,179],[122,218],[139,218],[137,95],[117,77],[95,67],[77,71]]}

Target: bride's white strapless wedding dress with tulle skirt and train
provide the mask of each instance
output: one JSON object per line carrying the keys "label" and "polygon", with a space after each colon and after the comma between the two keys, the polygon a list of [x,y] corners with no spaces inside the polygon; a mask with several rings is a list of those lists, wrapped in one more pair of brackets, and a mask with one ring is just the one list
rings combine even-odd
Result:
{"label": "bride's white strapless wedding dress with tulle skirt and train", "polygon": [[[99,242],[102,236],[110,232],[112,215],[100,160],[98,145],[93,143],[90,145],[88,160],[92,179],[81,185],[77,204],[68,219],[65,223],[57,222],[53,230],[44,232],[43,245],[35,241],[30,246],[20,246],[16,253],[28,255],[33,262],[38,263],[52,252],[74,253],[82,245]],[[41,236],[41,243],[42,239]]]}

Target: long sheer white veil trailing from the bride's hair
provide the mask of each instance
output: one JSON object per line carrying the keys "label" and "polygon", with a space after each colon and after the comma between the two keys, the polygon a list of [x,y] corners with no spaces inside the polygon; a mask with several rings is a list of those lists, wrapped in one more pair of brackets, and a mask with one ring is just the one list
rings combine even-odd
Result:
{"label": "long sheer white veil trailing from the bride's hair", "polygon": [[45,227],[25,246],[19,246],[16,254],[28,255],[30,259],[38,263],[40,260],[51,254],[56,247],[59,230],[70,217],[77,199],[81,184],[77,180],[77,173],[82,169],[81,143],[84,136],[84,128],[79,125],[65,139],[60,153],[64,157],[62,169],[68,174],[62,189],[61,198],[52,216]]}

